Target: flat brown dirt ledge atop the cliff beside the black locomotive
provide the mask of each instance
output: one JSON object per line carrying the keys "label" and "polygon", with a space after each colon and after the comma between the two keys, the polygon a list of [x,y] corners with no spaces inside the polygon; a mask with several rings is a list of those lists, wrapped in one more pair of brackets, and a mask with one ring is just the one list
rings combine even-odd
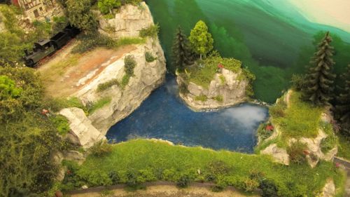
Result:
{"label": "flat brown dirt ledge atop the cliff beside the black locomotive", "polygon": [[98,76],[107,65],[136,48],[135,46],[124,46],[118,50],[96,48],[83,54],[71,54],[74,46],[76,41],[71,41],[68,46],[37,68],[47,92],[53,97],[67,97],[76,93]]}

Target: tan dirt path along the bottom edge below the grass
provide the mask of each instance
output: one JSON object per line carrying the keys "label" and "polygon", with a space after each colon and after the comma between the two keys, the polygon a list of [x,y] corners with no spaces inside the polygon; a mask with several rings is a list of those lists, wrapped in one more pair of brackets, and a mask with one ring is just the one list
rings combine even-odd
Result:
{"label": "tan dirt path along the bottom edge below the grass", "polygon": [[[112,187],[113,188],[113,187]],[[88,189],[90,190],[90,189]],[[122,186],[110,190],[96,188],[87,192],[71,194],[71,197],[245,197],[246,195],[228,188],[225,191],[213,192],[207,184],[195,184],[187,189],[178,189],[174,184],[157,183],[147,186],[145,190],[125,191]],[[249,195],[254,197],[253,195]]]}

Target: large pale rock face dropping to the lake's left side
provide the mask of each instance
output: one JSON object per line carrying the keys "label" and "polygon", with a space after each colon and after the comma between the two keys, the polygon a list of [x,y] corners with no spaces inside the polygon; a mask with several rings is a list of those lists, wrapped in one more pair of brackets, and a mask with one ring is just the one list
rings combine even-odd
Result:
{"label": "large pale rock face dropping to the lake's left side", "polygon": [[[146,62],[146,52],[153,53],[157,60]],[[137,66],[134,68],[134,76],[130,78],[124,90],[120,86],[112,86],[108,90],[98,93],[97,87],[99,84],[112,79],[122,80],[125,74],[124,58],[127,55],[134,57]],[[106,135],[106,132],[112,125],[129,116],[155,88],[158,88],[163,83],[165,72],[165,57],[158,39],[148,39],[145,44],[137,46],[136,50],[123,55],[122,58],[113,62],[113,64],[109,64],[96,79],[81,89],[77,96],[85,104],[97,102],[104,97],[111,98],[109,104],[89,116],[92,125],[103,135]]]}

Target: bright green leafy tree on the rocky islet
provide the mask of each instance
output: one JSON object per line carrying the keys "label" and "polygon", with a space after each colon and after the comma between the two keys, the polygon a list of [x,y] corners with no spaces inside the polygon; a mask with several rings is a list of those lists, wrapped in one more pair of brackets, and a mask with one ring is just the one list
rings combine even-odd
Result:
{"label": "bright green leafy tree on the rocky islet", "polygon": [[189,39],[193,50],[200,55],[201,60],[203,55],[207,55],[214,48],[214,39],[208,32],[207,25],[202,20],[198,21],[195,28],[192,29]]}

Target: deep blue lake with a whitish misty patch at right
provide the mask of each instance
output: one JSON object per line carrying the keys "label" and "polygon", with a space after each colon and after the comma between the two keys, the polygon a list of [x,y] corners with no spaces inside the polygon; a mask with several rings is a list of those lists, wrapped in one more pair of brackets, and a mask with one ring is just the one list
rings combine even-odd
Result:
{"label": "deep blue lake with a whitish misty patch at right", "polygon": [[114,125],[106,137],[116,142],[156,138],[190,147],[252,153],[258,125],[268,118],[266,107],[241,104],[218,111],[195,112],[179,98],[174,76],[147,98],[139,109]]}

